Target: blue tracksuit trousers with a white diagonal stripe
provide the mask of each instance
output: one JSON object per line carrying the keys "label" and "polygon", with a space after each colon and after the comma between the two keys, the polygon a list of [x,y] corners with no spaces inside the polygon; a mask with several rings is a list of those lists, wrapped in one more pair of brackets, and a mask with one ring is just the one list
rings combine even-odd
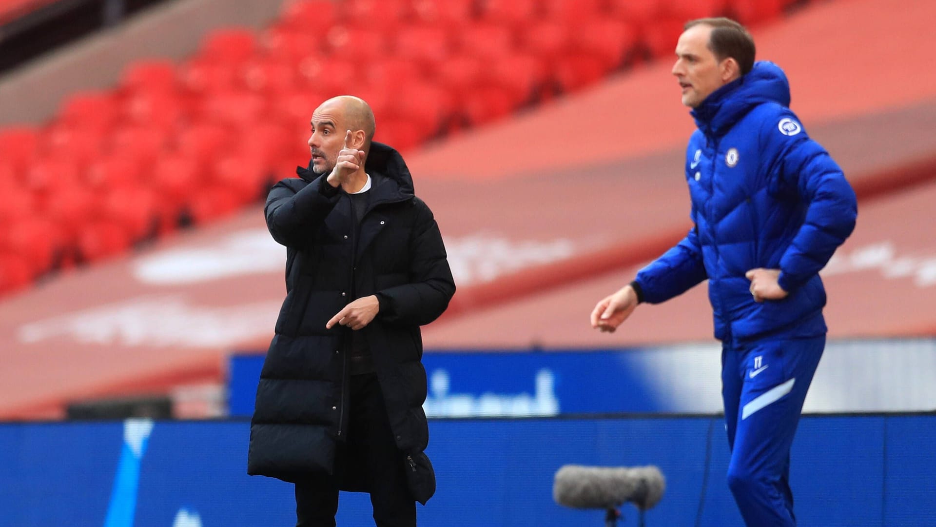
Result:
{"label": "blue tracksuit trousers with a white diagonal stripe", "polygon": [[723,344],[728,487],[749,527],[797,524],[789,485],[790,446],[825,346],[825,336]]}

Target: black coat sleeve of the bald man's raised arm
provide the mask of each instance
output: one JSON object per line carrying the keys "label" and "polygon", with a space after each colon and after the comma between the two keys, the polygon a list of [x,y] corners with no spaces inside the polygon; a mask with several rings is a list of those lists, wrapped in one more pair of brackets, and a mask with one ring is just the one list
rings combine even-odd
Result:
{"label": "black coat sleeve of the bald man's raised arm", "polygon": [[297,191],[299,181],[286,179],[274,185],[263,209],[273,239],[292,248],[301,248],[312,239],[312,229],[329,215],[339,194],[324,175]]}

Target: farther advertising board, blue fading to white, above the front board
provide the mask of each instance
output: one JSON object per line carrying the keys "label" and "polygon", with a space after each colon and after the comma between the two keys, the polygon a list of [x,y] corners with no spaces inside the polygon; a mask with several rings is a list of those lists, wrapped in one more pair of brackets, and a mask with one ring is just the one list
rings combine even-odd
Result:
{"label": "farther advertising board, blue fading to white, above the front board", "polygon": [[[431,417],[677,413],[722,410],[717,343],[621,350],[423,354]],[[235,354],[229,412],[254,412],[262,354]],[[806,412],[936,410],[936,339],[830,341]]]}

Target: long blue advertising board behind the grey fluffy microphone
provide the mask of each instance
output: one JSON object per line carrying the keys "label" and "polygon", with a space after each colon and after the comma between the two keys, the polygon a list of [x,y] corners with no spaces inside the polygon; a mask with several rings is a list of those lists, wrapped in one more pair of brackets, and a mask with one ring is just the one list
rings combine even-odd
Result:
{"label": "long blue advertising board behind the grey fluffy microphone", "polygon": [[[420,525],[601,525],[552,501],[568,463],[656,465],[653,526],[741,525],[725,484],[719,416],[433,419],[438,491]],[[292,486],[246,475],[248,424],[148,421],[0,425],[4,527],[226,527],[295,522]],[[802,525],[936,525],[936,414],[805,416],[791,484]],[[622,527],[636,525],[623,507]],[[373,525],[367,495],[344,493],[338,524]]]}

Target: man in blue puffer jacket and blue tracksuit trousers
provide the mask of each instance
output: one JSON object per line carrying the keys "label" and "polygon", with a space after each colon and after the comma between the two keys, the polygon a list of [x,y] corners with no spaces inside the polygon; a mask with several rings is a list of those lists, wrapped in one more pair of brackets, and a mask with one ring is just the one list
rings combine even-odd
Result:
{"label": "man in blue puffer jacket and blue tracksuit trousers", "polygon": [[790,111],[781,68],[742,25],[685,25],[673,75],[698,129],[685,173],[694,226],[592,311],[613,332],[640,303],[709,279],[731,448],[728,485],[751,526],[796,525],[790,446],[826,343],[819,270],[855,228],[855,192]]}

